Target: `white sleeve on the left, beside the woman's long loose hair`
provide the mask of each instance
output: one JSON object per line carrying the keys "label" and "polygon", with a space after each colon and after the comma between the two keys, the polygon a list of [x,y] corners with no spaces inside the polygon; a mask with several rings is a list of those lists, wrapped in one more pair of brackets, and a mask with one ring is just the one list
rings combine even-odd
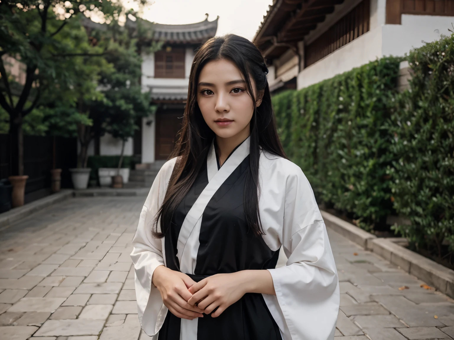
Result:
{"label": "white sleeve on the left, beside the woman's long loose hair", "polygon": [[159,170],[143,205],[133,238],[131,258],[135,271],[138,318],[143,330],[150,336],[158,333],[168,311],[158,288],[151,282],[156,267],[165,265],[163,239],[153,238],[152,228],[154,217],[163,202],[174,163],[174,160],[173,162],[169,160]]}

